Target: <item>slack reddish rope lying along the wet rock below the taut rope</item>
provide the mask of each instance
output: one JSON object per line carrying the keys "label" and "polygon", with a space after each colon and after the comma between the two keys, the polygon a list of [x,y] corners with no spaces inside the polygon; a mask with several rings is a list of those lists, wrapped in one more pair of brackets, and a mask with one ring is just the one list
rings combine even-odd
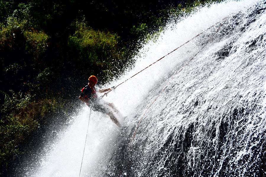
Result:
{"label": "slack reddish rope lying along the wet rock below the taut rope", "polygon": [[[217,24],[217,23],[216,23]],[[214,26],[214,25],[213,25]],[[220,26],[219,26],[219,28],[218,28],[218,30],[215,32],[215,33],[217,33],[219,30],[220,30],[220,28],[221,28],[221,26],[222,26],[222,23],[220,24]],[[217,38],[218,36],[216,36],[215,38],[213,38],[213,40],[215,40],[216,38]],[[210,42],[210,40],[208,40],[207,42],[206,42],[206,44],[189,60],[189,61],[191,61],[193,58],[195,58],[196,57],[196,55],[198,55],[198,53],[200,53],[200,51],[208,44]],[[184,66],[186,66],[186,65],[188,65],[188,62],[185,64],[185,65],[182,65],[181,66],[181,69],[176,73],[176,74],[178,74],[178,73],[180,73],[180,71],[182,71],[183,70],[183,68],[184,68]],[[175,74],[175,75],[176,75]],[[173,75],[174,76],[174,75]],[[172,76],[172,77],[173,77]],[[141,118],[140,118],[140,121],[139,121],[139,123],[137,124],[137,127],[136,127],[136,129],[135,129],[135,131],[134,131],[134,133],[133,133],[133,135],[132,135],[132,138],[131,138],[131,141],[130,141],[130,144],[132,145],[132,142],[133,142],[133,140],[134,140],[134,138],[135,138],[135,136],[136,136],[136,134],[137,134],[137,129],[138,129],[138,127],[140,126],[140,123],[141,123],[141,121],[142,121],[142,119],[143,119],[143,117],[144,117],[144,115],[146,114],[146,112],[148,111],[148,109],[153,105],[153,103],[158,99],[158,97],[164,92],[164,90],[167,88],[167,86],[168,86],[168,84],[170,83],[170,81],[172,80],[172,77],[171,77],[171,79],[169,79],[169,81],[168,81],[168,83],[166,84],[166,86],[164,87],[164,89],[161,91],[161,93],[153,100],[153,102],[150,104],[150,106],[145,110],[145,112],[142,114],[142,116],[141,116]]]}

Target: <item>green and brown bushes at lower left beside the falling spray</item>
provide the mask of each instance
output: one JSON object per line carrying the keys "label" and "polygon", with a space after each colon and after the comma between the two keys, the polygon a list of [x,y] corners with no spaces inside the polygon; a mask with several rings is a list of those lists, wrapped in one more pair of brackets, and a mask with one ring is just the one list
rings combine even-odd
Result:
{"label": "green and brown bushes at lower left beside the falling spray", "polygon": [[[41,77],[41,76],[40,76]],[[0,107],[0,164],[21,153],[18,145],[29,137],[48,113],[63,108],[57,99],[34,99],[34,95],[16,94],[10,90],[4,94],[4,104]],[[10,96],[11,95],[11,96]]]}

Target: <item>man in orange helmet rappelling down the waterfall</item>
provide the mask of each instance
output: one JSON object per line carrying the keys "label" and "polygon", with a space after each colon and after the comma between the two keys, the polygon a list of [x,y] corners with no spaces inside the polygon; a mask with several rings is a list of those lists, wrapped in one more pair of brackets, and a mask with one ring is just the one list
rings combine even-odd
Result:
{"label": "man in orange helmet rappelling down the waterfall", "polygon": [[[100,104],[100,99],[98,98],[95,89],[95,85],[98,82],[97,77],[90,76],[88,80],[89,83],[81,89],[81,94],[79,96],[79,99],[84,103],[86,103],[87,106],[89,106],[93,111],[99,111],[107,114],[118,127],[121,127],[121,124],[119,123],[117,118],[113,115],[113,112],[110,110],[110,108],[108,108],[109,106],[112,109],[114,109],[115,112],[118,112],[117,109],[114,107],[113,103],[104,102],[105,105]],[[98,92],[105,93],[109,90],[111,90],[111,88],[98,89]]]}

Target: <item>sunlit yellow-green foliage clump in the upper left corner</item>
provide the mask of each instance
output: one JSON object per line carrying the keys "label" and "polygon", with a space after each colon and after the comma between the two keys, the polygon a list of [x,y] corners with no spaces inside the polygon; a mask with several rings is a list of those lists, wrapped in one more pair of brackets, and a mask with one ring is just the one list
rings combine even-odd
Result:
{"label": "sunlit yellow-green foliage clump in the upper left corner", "polygon": [[18,4],[18,9],[6,19],[6,25],[1,24],[0,45],[14,49],[18,43],[20,47],[25,46],[25,50],[33,54],[34,58],[38,58],[45,52],[49,36],[41,31],[29,31],[33,23],[30,9],[29,4]]}

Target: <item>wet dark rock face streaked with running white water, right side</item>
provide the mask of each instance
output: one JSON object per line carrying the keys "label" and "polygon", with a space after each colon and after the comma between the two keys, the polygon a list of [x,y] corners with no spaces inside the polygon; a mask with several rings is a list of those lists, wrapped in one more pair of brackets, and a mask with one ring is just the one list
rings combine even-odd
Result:
{"label": "wet dark rock face streaked with running white water, right side", "polygon": [[265,9],[260,1],[216,39],[204,35],[211,44],[166,82],[111,176],[265,176]]}

